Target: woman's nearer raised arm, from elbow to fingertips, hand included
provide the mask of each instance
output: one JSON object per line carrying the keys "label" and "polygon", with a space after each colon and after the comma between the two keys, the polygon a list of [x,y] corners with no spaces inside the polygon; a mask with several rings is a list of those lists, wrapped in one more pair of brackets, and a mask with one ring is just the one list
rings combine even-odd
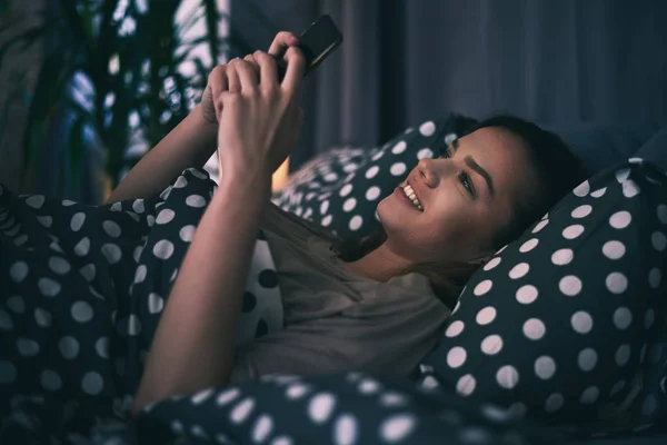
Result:
{"label": "woman's nearer raised arm, from elbow to fingertips, hand included", "polygon": [[[293,148],[302,116],[297,103],[305,58],[290,48],[278,85],[273,58],[256,52],[261,81],[249,61],[229,65],[220,95],[220,187],[201,218],[153,338],[132,405],[229,382],[235,333],[271,174]],[[261,86],[260,86],[261,83]]]}

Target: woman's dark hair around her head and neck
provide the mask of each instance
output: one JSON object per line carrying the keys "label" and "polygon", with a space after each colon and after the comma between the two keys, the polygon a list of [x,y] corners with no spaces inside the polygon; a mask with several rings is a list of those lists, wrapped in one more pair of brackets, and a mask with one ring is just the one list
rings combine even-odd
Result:
{"label": "woman's dark hair around her head and neck", "polygon": [[[514,209],[515,217],[506,227],[497,230],[492,247],[499,249],[518,238],[532,222],[542,217],[575,186],[584,181],[588,174],[580,160],[568,149],[557,135],[539,128],[510,115],[497,115],[470,126],[461,136],[469,135],[481,128],[502,128],[519,137],[526,148],[529,164],[535,168],[536,192],[525,200],[517,200]],[[354,261],[380,246],[387,239],[387,234],[380,229],[361,240],[350,241],[335,239],[332,248],[345,261]],[[478,265],[420,265],[415,270],[426,275],[440,299],[451,307],[468,278]]]}

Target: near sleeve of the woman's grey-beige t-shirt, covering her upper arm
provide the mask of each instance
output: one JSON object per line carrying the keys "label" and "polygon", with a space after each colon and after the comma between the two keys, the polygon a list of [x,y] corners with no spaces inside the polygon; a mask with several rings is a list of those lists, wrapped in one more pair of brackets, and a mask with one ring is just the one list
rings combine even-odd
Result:
{"label": "near sleeve of the woman's grey-beige t-shirt, covering her upper arm", "polygon": [[397,307],[368,318],[341,314],[288,325],[281,332],[239,346],[230,383],[266,374],[351,370],[406,377],[435,346],[447,315],[439,301],[421,304],[412,313]]}

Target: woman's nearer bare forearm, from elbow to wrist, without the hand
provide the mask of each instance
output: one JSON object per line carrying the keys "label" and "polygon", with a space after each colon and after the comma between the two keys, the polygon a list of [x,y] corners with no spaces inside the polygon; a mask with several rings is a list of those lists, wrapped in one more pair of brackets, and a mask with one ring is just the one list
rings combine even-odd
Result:
{"label": "woman's nearer bare forearm, from elbow to wrist, without the hand", "polygon": [[170,395],[229,380],[236,323],[270,175],[223,178],[161,316],[132,414]]}

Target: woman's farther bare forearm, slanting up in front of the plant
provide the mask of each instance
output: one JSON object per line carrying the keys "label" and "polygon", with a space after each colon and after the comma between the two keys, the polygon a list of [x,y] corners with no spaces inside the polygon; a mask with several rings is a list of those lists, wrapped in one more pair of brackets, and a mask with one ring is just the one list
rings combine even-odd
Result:
{"label": "woman's farther bare forearm, slanting up in front of the plant", "polygon": [[203,119],[198,105],[125,177],[109,201],[150,198],[185,169],[202,167],[216,152],[218,126]]}

